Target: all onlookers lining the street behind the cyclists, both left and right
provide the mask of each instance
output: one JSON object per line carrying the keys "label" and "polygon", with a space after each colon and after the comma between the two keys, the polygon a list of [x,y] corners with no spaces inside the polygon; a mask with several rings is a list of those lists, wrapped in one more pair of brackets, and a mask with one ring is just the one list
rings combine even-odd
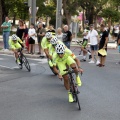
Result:
{"label": "all onlookers lining the street behind the cyclists, both left and right", "polygon": [[[9,22],[9,17],[5,18],[5,22],[1,25],[3,28],[3,42],[4,42],[4,49],[5,51],[9,50],[9,35],[11,30],[11,23]],[[112,39],[117,41],[118,48],[120,52],[120,26],[115,25],[112,28]],[[104,24],[100,25],[100,34],[98,34],[97,30],[95,30],[94,25],[87,26],[85,30],[87,30],[87,34],[83,35],[83,39],[88,39],[90,41],[90,49],[91,49],[91,56],[92,59],[89,63],[94,63],[94,54],[99,56],[97,57],[96,64],[102,64],[104,66],[105,63],[105,56],[101,56],[98,53],[98,49],[104,48],[107,51],[107,42],[109,40],[109,33],[110,28],[106,27]],[[70,49],[70,44],[72,41],[72,33],[69,30],[68,25],[64,25],[63,28],[54,29],[53,25],[46,27],[43,23],[43,19],[39,18],[36,24],[34,25],[31,23],[30,27],[25,24],[24,21],[21,19],[19,20],[18,27],[16,30],[16,35],[24,41],[27,46],[27,54],[39,54],[43,56],[43,50],[41,48],[41,41],[42,38],[45,36],[46,32],[52,32],[53,35],[62,42]],[[85,32],[85,31],[84,31]],[[35,51],[35,43],[38,44],[38,52]],[[98,45],[99,44],[99,45]],[[86,59],[86,53],[83,50],[83,61]]]}

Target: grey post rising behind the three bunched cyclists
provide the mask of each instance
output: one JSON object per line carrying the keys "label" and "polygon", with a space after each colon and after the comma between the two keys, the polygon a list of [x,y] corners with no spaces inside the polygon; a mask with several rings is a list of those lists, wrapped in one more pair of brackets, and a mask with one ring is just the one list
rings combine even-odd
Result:
{"label": "grey post rising behind the three bunched cyclists", "polygon": [[57,9],[56,9],[56,30],[58,27],[62,26],[62,0],[57,0]]}

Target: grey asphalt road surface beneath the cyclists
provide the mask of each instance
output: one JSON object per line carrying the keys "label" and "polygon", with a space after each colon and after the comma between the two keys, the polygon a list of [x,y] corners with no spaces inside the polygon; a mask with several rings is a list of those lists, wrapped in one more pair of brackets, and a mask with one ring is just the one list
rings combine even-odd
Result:
{"label": "grey asphalt road surface beneath the cyclists", "polygon": [[[79,56],[79,59],[82,57]],[[0,55],[0,120],[120,120],[120,59],[108,50],[106,66],[82,62],[81,111],[46,59],[28,59],[31,72],[19,70],[13,56]]]}

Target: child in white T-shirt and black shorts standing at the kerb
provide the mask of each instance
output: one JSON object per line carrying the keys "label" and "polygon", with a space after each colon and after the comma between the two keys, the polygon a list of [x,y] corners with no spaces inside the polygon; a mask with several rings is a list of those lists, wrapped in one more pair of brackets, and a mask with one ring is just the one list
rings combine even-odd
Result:
{"label": "child in white T-shirt and black shorts standing at the kerb", "polygon": [[35,32],[33,23],[31,23],[30,29],[28,30],[28,37],[29,37],[29,52],[28,52],[28,54],[34,54],[35,53],[36,32]]}

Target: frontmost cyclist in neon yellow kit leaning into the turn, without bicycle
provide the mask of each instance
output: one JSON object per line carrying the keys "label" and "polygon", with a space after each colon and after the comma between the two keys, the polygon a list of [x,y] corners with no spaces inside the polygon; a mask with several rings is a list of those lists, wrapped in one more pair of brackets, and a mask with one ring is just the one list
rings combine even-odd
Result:
{"label": "frontmost cyclist in neon yellow kit leaning into the turn, without bicycle", "polygon": [[[76,58],[76,56],[72,53],[71,50],[65,48],[63,44],[57,44],[55,48],[56,53],[54,53],[52,58],[54,71],[58,74],[58,77],[60,79],[62,78],[64,79],[64,86],[66,90],[68,90],[69,102],[73,102],[74,101],[73,96],[72,93],[70,92],[69,77],[66,74],[67,71],[64,70],[70,67],[75,71],[76,83],[78,86],[82,85],[78,73],[83,72],[83,70],[80,68],[80,61]],[[56,69],[56,66],[58,67],[59,70]]]}

